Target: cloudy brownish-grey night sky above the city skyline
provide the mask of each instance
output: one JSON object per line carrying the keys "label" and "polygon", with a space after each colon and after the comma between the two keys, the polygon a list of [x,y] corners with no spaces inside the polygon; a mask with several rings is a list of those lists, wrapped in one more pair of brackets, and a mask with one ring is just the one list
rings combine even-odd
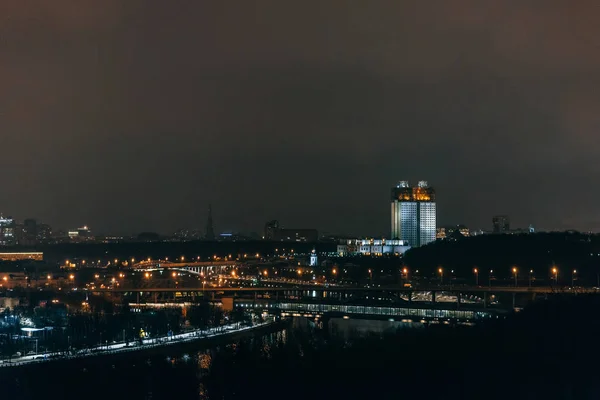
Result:
{"label": "cloudy brownish-grey night sky above the city skyline", "polygon": [[0,212],[55,228],[600,230],[587,0],[0,2]]}

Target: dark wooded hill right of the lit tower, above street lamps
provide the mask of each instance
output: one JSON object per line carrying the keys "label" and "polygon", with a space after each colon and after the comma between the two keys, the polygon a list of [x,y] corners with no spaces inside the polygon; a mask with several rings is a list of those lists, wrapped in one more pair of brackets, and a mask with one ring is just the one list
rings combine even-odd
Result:
{"label": "dark wooded hill right of the lit tower, above street lamps", "polygon": [[571,273],[577,270],[579,284],[595,285],[600,272],[600,237],[565,232],[482,235],[411,249],[404,262],[423,275],[434,275],[443,267],[454,270],[457,276],[471,277],[477,267],[482,279],[489,270],[494,270],[495,276],[510,278],[514,266],[522,279],[527,279],[530,270],[546,279],[556,265],[559,281],[570,284]]}

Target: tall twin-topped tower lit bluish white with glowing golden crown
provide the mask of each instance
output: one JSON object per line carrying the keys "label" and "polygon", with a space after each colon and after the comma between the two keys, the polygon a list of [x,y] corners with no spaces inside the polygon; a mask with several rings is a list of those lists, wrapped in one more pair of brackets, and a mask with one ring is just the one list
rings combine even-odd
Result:
{"label": "tall twin-topped tower lit bluish white with glowing golden crown", "polygon": [[401,181],[392,188],[392,239],[412,247],[433,242],[436,236],[435,190],[426,181],[411,187]]}

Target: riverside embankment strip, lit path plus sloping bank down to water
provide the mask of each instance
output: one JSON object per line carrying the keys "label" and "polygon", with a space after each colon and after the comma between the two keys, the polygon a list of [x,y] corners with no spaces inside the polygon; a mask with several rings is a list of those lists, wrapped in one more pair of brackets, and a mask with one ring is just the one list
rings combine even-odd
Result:
{"label": "riverside embankment strip, lit path plus sloping bank down to water", "polygon": [[41,366],[45,364],[65,363],[73,361],[83,361],[90,359],[99,359],[105,357],[120,357],[128,356],[132,352],[136,353],[154,353],[161,351],[166,347],[173,346],[186,346],[193,344],[197,346],[198,343],[205,344],[206,346],[212,346],[222,342],[231,340],[237,340],[241,337],[250,334],[268,333],[270,331],[279,330],[287,325],[288,321],[268,321],[259,323],[253,326],[239,327],[237,324],[225,325],[218,328],[209,330],[195,330],[191,332],[181,333],[173,335],[171,337],[161,337],[155,339],[144,339],[143,344],[134,345],[134,343],[115,343],[108,346],[98,346],[89,349],[89,352],[79,353],[76,355],[64,355],[57,353],[38,354],[26,357],[20,357],[10,362],[4,361],[0,363],[0,367],[5,368],[19,368],[28,366]]}

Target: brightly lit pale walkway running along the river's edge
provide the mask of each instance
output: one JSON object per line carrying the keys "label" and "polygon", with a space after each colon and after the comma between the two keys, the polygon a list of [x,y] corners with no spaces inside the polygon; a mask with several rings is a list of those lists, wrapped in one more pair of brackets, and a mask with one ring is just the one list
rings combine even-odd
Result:
{"label": "brightly lit pale walkway running along the river's edge", "polygon": [[124,343],[114,343],[109,345],[92,347],[86,350],[80,350],[76,355],[66,355],[63,353],[40,353],[12,359],[10,362],[4,360],[0,362],[0,367],[15,367],[26,364],[44,363],[58,360],[80,359],[84,357],[94,357],[99,355],[117,354],[131,351],[143,351],[156,347],[168,346],[172,344],[186,343],[202,339],[211,339],[221,336],[227,336],[234,333],[252,331],[273,324],[273,321],[259,323],[253,326],[236,327],[238,324],[223,325],[218,328],[208,330],[194,330],[191,332],[180,333],[170,337],[161,336],[150,339],[143,339],[143,344],[139,345],[137,341]]}

